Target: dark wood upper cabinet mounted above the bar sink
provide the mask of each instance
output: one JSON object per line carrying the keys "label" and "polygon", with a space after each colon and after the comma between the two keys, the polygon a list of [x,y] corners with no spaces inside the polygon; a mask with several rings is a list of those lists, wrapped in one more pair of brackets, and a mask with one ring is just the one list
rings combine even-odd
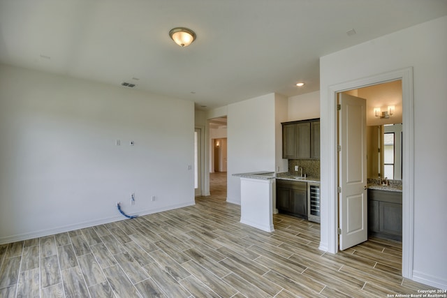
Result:
{"label": "dark wood upper cabinet mounted above the bar sink", "polygon": [[282,123],[282,158],[320,158],[320,119]]}

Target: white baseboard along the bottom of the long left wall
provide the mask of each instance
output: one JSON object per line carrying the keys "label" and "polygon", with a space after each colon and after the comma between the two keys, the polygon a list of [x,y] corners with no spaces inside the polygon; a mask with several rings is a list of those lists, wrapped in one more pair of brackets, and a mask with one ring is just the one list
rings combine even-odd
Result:
{"label": "white baseboard along the bottom of the long left wall", "polygon": [[[129,215],[145,216],[145,215],[149,215],[149,214],[178,209],[178,208],[182,208],[182,207],[193,206],[194,204],[196,204],[196,202],[194,202],[194,201],[186,202],[184,204],[175,204],[175,205],[158,208],[158,209],[140,210],[138,212],[138,214],[129,214]],[[94,221],[85,221],[83,223],[76,223],[74,225],[62,225],[60,227],[51,228],[51,229],[47,229],[47,230],[39,230],[39,231],[35,231],[35,232],[17,234],[17,235],[13,235],[13,236],[0,237],[0,245],[13,243],[13,242],[17,242],[17,241],[24,241],[24,240],[28,240],[28,239],[34,239],[34,238],[38,238],[38,237],[50,236],[52,234],[70,232],[73,230],[79,230],[79,229],[83,229],[83,228],[93,227],[95,225],[103,225],[105,223],[112,223],[114,221],[122,221],[124,219],[126,219],[124,216],[117,215],[117,216],[111,216],[108,218],[96,219]]]}

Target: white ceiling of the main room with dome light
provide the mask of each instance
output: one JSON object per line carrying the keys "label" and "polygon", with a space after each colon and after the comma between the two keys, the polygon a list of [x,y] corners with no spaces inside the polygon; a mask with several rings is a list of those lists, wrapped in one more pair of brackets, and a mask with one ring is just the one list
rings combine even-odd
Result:
{"label": "white ceiling of the main room with dome light", "polygon": [[[444,15],[447,0],[0,0],[0,63],[207,110],[316,91],[319,57]],[[173,27],[196,41],[179,47]]]}

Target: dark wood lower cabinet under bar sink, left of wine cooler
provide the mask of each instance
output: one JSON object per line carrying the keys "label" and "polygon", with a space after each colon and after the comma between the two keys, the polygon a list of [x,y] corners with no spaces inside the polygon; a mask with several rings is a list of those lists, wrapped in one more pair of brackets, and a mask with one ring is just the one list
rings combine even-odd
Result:
{"label": "dark wood lower cabinet under bar sink, left of wine cooler", "polygon": [[307,219],[307,183],[277,179],[277,209],[280,213]]}

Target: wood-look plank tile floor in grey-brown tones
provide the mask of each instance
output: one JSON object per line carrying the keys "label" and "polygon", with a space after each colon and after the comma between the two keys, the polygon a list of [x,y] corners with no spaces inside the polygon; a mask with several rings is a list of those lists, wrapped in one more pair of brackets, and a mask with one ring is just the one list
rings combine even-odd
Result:
{"label": "wood-look plank tile floor in grey-brown tones", "polygon": [[324,253],[318,224],[277,214],[274,232],[256,230],[239,223],[240,206],[224,192],[1,245],[0,297],[387,297],[432,289],[402,278],[400,242],[376,238]]}

